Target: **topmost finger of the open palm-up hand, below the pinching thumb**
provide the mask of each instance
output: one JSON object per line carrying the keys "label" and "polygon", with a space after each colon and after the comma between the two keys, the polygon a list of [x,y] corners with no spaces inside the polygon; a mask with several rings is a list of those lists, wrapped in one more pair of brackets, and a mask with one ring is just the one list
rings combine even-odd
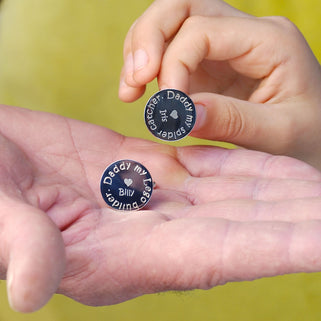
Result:
{"label": "topmost finger of the open palm-up hand, below the pinching thumb", "polygon": [[177,157],[194,177],[252,176],[321,181],[321,172],[312,166],[291,157],[264,152],[186,146],[177,148]]}

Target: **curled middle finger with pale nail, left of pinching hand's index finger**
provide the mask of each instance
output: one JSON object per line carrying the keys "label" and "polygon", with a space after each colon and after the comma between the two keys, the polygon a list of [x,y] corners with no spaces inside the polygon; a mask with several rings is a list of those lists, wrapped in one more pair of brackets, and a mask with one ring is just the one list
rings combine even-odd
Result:
{"label": "curled middle finger with pale nail, left of pinching hand's index finger", "polygon": [[187,18],[186,10],[169,9],[167,3],[154,2],[128,32],[122,70],[128,87],[140,88],[157,76],[166,42]]}

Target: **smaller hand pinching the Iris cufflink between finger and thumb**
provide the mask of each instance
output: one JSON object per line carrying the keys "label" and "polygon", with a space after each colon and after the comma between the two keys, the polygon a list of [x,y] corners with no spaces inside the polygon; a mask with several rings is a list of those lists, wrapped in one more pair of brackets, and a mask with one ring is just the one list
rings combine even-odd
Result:
{"label": "smaller hand pinching the Iris cufflink between finger and thumb", "polygon": [[192,135],[321,168],[321,67],[286,18],[218,0],[156,0],[128,32],[124,62],[123,101],[157,77],[160,88],[191,95]]}

